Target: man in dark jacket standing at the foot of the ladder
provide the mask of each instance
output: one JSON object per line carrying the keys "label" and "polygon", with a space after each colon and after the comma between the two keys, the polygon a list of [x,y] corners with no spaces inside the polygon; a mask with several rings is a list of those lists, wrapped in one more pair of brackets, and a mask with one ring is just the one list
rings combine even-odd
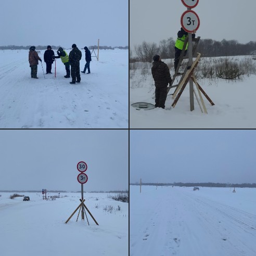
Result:
{"label": "man in dark jacket standing at the foot of the ladder", "polygon": [[161,61],[159,55],[153,57],[153,66],[151,68],[153,79],[156,86],[156,108],[164,108],[165,100],[167,98],[167,86],[171,85],[172,79],[168,66]]}

